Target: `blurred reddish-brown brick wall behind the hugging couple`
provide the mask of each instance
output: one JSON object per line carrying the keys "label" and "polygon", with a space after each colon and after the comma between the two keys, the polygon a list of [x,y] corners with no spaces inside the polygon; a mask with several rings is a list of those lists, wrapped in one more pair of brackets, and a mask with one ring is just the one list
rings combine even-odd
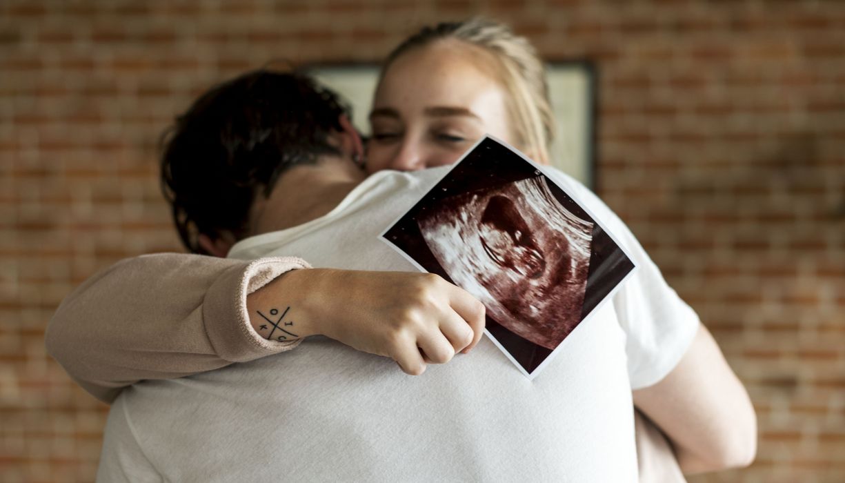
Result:
{"label": "blurred reddish-brown brick wall behind the hugging couple", "polygon": [[597,192],[701,315],[760,423],[749,469],[845,481],[845,2],[0,0],[0,480],[93,480],[107,407],[45,353],[121,258],[181,251],[163,128],[271,58],[377,62],[485,14],[597,71]]}

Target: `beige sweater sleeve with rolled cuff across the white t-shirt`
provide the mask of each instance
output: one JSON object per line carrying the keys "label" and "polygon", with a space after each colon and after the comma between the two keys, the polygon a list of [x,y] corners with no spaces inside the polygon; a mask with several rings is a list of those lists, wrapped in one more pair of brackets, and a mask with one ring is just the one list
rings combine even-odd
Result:
{"label": "beige sweater sleeve with rolled cuff across the white t-shirt", "polygon": [[255,360],[295,347],[260,338],[246,297],[297,258],[256,261],[202,255],[142,255],[97,273],[59,305],[47,352],[95,398],[111,403],[123,387]]}

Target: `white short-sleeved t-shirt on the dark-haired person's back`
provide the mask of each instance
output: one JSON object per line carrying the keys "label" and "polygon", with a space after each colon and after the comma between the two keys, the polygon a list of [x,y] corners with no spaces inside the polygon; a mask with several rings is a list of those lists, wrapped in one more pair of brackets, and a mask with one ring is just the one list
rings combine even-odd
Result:
{"label": "white short-sleeved t-shirt on the dark-haired person's back", "polygon": [[[377,239],[448,167],[384,171],[324,217],[238,243],[345,269],[415,271]],[[112,405],[102,481],[636,481],[631,390],[660,381],[698,328],[619,218],[551,173],[639,266],[533,381],[487,338],[407,376],[329,338],[170,381]]]}

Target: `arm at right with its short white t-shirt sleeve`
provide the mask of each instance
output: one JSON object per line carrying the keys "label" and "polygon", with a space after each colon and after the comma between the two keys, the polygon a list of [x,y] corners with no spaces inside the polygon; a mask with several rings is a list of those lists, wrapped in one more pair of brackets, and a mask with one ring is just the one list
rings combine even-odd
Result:
{"label": "arm at right with its short white t-shirt sleeve", "polygon": [[552,174],[573,189],[637,265],[613,296],[636,407],[671,440],[684,473],[750,464],[756,452],[754,408],[695,311],[602,200],[565,175]]}

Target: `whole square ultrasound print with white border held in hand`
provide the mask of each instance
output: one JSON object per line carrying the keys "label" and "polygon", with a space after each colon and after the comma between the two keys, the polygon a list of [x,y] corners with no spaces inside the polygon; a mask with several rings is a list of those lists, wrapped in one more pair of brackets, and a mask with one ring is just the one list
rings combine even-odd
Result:
{"label": "whole square ultrasound print with white border held in hand", "polygon": [[582,206],[492,138],[382,238],[481,300],[488,336],[529,377],[634,269]]}

